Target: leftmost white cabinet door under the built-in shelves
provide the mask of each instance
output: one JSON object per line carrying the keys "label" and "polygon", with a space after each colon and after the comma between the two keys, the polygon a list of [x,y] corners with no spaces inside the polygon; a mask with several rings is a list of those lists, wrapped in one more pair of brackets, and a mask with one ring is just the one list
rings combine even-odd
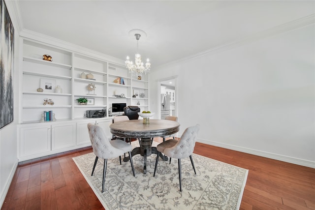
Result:
{"label": "leftmost white cabinet door under the built-in shelves", "polygon": [[20,156],[38,155],[51,150],[51,126],[29,126],[20,129]]}

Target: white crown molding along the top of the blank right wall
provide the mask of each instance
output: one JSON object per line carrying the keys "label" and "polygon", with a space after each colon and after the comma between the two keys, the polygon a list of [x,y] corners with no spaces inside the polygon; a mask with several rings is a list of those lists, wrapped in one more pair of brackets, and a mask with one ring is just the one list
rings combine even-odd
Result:
{"label": "white crown molding along the top of the blank right wall", "polygon": [[197,53],[197,54],[194,54],[194,55],[191,55],[191,56],[179,59],[179,60],[174,60],[174,61],[162,64],[162,65],[159,65],[155,68],[155,70],[161,70],[165,67],[173,66],[178,63],[183,63],[185,61],[193,60],[193,59],[200,58],[203,56],[214,55],[222,51],[237,48],[239,46],[246,45],[246,44],[261,40],[261,39],[265,39],[270,36],[274,36],[274,35],[281,34],[287,31],[303,28],[312,24],[315,24],[315,14],[305,16],[303,18],[296,19],[294,21],[290,21],[288,23],[285,23],[276,27],[254,33],[252,35],[246,36],[239,40],[229,42],[220,46],[216,46],[206,51],[203,51],[203,52],[200,52],[200,53]]}

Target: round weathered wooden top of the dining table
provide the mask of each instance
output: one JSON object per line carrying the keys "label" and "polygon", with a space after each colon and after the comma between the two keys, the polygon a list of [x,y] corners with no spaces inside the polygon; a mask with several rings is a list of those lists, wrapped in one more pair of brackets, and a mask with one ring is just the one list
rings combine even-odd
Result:
{"label": "round weathered wooden top of the dining table", "polygon": [[173,120],[151,120],[143,124],[143,120],[126,120],[110,125],[112,134],[129,138],[153,138],[167,136],[179,131],[180,123]]}

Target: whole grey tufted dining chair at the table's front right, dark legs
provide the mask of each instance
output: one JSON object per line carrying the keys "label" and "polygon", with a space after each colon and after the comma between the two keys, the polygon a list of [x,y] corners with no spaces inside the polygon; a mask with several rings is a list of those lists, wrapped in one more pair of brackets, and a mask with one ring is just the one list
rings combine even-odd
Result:
{"label": "whole grey tufted dining chair at the table's front right, dark legs", "polygon": [[181,172],[181,159],[189,157],[196,174],[195,166],[193,165],[192,152],[195,147],[197,134],[199,132],[200,125],[196,124],[194,126],[186,128],[180,140],[170,139],[168,141],[162,142],[157,146],[158,154],[156,159],[156,165],[154,168],[153,176],[156,176],[156,171],[158,167],[159,154],[162,152],[169,157],[169,163],[171,163],[171,158],[178,159],[178,174],[179,174],[179,188],[182,191],[182,172]]}

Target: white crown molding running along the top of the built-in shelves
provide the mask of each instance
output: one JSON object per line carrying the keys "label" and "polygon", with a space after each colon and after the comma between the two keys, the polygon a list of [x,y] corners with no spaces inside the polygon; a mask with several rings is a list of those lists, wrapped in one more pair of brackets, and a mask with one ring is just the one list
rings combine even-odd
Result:
{"label": "white crown molding running along the top of the built-in shelves", "polygon": [[107,60],[109,62],[117,63],[120,65],[125,65],[125,60],[121,60],[121,59],[115,58],[113,56],[105,55],[105,54],[93,51],[91,49],[81,47],[79,45],[75,45],[75,44],[72,44],[72,43],[51,37],[51,36],[47,36],[47,35],[44,35],[41,33],[34,32],[32,30],[24,29],[20,32],[20,36],[25,37],[25,38],[29,38],[29,39],[32,39],[35,41],[40,41],[40,42],[45,43],[45,44],[54,45],[56,47],[63,48],[67,51],[73,51],[75,53],[80,53],[83,55],[92,56],[92,57],[100,59],[100,60]]}

